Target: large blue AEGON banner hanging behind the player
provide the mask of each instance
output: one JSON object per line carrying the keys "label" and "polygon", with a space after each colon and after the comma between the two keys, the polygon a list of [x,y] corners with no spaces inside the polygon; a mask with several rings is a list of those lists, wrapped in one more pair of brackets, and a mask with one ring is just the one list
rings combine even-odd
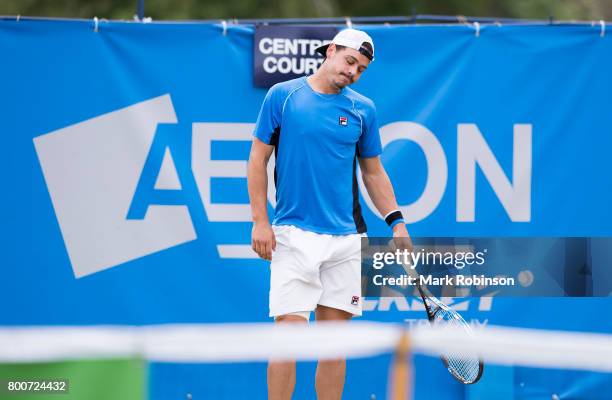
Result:
{"label": "large blue AEGON banner hanging behind the player", "polygon": [[[590,25],[364,29],[376,60],[355,89],[376,103],[382,160],[413,235],[612,235],[610,35]],[[253,86],[253,35],[0,21],[0,324],[269,321],[246,190],[266,94]],[[369,234],[388,235],[361,196]],[[273,212],[273,188],[269,199]],[[608,296],[596,285],[610,287],[609,250],[597,254],[592,291]],[[364,318],[420,323],[415,301],[371,299]],[[609,299],[455,305],[480,324],[612,328],[584,312]]]}

